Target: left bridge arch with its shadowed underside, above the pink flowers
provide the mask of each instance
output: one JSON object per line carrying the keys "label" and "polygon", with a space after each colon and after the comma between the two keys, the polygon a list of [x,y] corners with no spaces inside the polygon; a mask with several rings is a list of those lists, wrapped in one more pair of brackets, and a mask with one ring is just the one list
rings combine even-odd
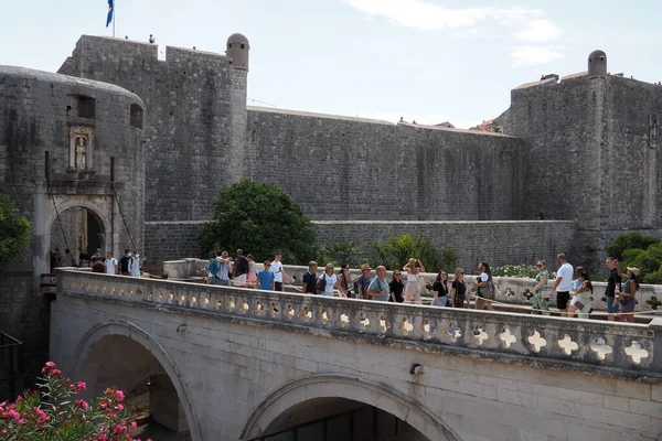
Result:
{"label": "left bridge arch with its shadowed underside, above the pink flowers", "polygon": [[109,386],[130,390],[138,381],[151,377],[152,418],[170,429],[189,430],[192,441],[202,440],[182,373],[166,349],[139,325],[125,320],[98,323],[83,336],[74,356],[74,378],[86,381],[87,398],[99,396]]}

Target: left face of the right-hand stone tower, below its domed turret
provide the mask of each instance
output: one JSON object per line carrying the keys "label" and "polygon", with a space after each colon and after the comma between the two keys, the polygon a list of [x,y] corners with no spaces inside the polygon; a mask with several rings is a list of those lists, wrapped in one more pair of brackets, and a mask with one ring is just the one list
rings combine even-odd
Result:
{"label": "left face of the right-hand stone tower, below its domed turret", "polygon": [[599,168],[605,79],[579,76],[524,85],[511,93],[509,135],[527,143],[523,218],[600,223]]}

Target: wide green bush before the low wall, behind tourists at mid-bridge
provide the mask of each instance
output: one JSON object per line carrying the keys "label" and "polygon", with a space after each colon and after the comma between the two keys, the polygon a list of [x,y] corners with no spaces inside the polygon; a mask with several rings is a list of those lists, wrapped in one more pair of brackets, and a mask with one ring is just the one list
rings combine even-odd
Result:
{"label": "wide green bush before the low wall, behind tourists at mid-bridge", "polygon": [[395,269],[404,267],[413,257],[420,259],[428,272],[436,272],[440,269],[452,272],[457,265],[457,254],[452,249],[444,248],[440,252],[429,237],[412,237],[406,234],[391,236],[383,243],[375,240],[371,263]]}

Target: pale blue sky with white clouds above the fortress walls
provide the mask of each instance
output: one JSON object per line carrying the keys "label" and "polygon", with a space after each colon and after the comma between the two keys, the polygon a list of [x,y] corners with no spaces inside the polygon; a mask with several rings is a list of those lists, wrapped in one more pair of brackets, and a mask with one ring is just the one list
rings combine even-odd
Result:
{"label": "pale blue sky with white clouds above the fortress walls", "polygon": [[[0,64],[56,71],[81,34],[111,35],[106,12],[0,0]],[[116,20],[117,36],[153,33],[160,52],[223,53],[244,33],[250,103],[393,121],[468,128],[520,84],[585,71],[595,49],[611,73],[662,80],[659,0],[116,0]]]}

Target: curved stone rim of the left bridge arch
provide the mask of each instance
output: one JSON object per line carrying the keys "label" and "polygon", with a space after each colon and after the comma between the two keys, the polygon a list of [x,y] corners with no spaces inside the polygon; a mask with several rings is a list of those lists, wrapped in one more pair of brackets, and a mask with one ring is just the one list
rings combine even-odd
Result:
{"label": "curved stone rim of the left bridge arch", "polygon": [[186,423],[191,432],[191,440],[202,441],[197,415],[195,413],[195,410],[191,404],[189,387],[182,379],[179,368],[168,355],[166,349],[156,340],[153,340],[147,331],[138,326],[136,323],[126,320],[108,320],[89,329],[76,347],[74,362],[74,374],[76,377],[74,378],[85,378],[86,380],[92,381],[92,385],[96,384],[97,373],[85,373],[83,372],[83,367],[85,366],[89,355],[93,353],[95,345],[104,340],[104,337],[113,335],[119,335],[132,340],[145,347],[160,363],[164,373],[172,383],[172,386],[177,390],[179,400],[186,417]]}

